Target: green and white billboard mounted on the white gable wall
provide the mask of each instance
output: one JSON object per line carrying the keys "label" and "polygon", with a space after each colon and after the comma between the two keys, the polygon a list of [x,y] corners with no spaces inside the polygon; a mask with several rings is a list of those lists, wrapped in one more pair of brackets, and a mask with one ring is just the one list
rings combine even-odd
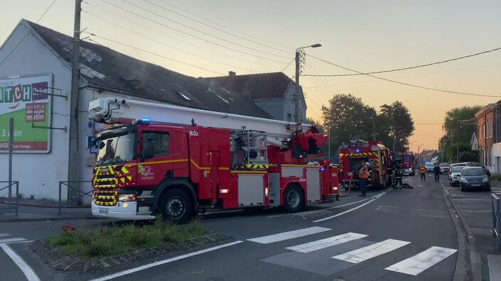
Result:
{"label": "green and white billboard mounted on the white gable wall", "polygon": [[[49,153],[52,75],[0,77],[0,153],[9,152],[9,118],[14,118],[16,153]],[[48,94],[44,94],[48,93]]]}

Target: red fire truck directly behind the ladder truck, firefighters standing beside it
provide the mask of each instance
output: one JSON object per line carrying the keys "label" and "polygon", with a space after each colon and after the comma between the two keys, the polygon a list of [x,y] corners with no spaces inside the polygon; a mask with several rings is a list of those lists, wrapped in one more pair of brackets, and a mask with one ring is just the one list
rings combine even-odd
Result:
{"label": "red fire truck directly behind the ladder truck, firefighters standing beside it", "polygon": [[357,187],[359,170],[369,162],[368,187],[384,188],[389,184],[390,150],[381,141],[350,140],[339,146],[339,180],[348,189],[350,182]]}

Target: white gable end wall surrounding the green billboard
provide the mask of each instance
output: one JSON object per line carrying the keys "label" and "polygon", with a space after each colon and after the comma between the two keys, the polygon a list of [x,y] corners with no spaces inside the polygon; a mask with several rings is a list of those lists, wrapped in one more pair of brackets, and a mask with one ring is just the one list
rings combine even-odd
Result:
{"label": "white gable end wall surrounding the green billboard", "polygon": [[[0,62],[28,32],[27,23],[20,23],[6,43],[0,49]],[[34,33],[34,32],[33,32]],[[70,92],[71,72],[56,53],[51,52],[38,35],[30,33],[19,46],[0,65],[0,76],[36,75],[51,73],[53,87]],[[53,98],[52,126],[69,126],[70,101]],[[51,152],[42,154],[16,153],[13,156],[13,180],[19,181],[19,192],[25,197],[46,199],[58,198],[58,182],[66,180],[68,175],[68,131],[52,130]],[[0,180],[7,180],[9,158],[7,153],[0,153],[0,165],[4,167]],[[2,186],[3,187],[3,186]],[[6,192],[0,192],[5,196]],[[63,189],[63,198],[66,192]]]}

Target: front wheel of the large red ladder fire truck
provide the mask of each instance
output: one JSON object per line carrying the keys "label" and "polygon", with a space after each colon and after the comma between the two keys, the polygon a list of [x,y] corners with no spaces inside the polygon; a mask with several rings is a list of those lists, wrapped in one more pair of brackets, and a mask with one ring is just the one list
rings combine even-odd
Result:
{"label": "front wheel of the large red ladder fire truck", "polygon": [[166,221],[181,224],[189,220],[192,204],[188,194],[181,189],[170,189],[164,193],[159,208]]}

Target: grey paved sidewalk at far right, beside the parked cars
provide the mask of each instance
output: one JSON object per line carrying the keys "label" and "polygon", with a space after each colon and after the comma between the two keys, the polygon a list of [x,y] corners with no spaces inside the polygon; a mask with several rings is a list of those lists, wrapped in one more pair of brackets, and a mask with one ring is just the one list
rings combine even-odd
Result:
{"label": "grey paved sidewalk at far right, beside the parked cars", "polygon": [[[445,194],[453,204],[470,242],[473,255],[478,255],[479,275],[482,280],[501,280],[501,253],[497,238],[492,236],[491,192],[461,192],[459,187],[449,187],[443,181]],[[501,182],[491,181],[492,192]],[[475,266],[475,265],[472,265]]]}

